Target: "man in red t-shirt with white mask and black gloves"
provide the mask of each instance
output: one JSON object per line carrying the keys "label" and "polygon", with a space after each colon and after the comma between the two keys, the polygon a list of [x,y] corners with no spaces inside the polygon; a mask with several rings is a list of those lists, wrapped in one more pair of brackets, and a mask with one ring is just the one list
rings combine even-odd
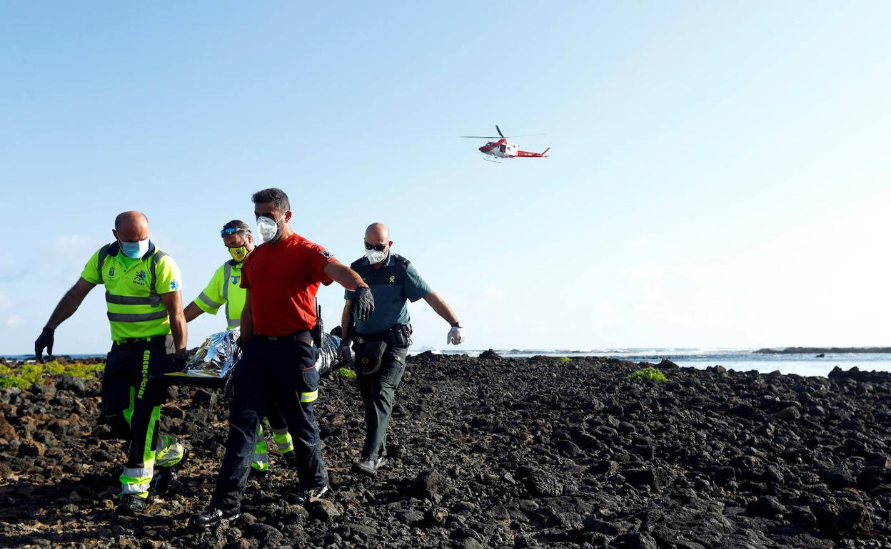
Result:
{"label": "man in red t-shirt with white mask and black gloves", "polygon": [[229,438],[206,513],[193,514],[192,525],[213,526],[241,513],[241,495],[250,472],[257,427],[273,401],[294,439],[300,486],[299,502],[307,503],[328,490],[328,475],[313,416],[318,397],[318,348],[309,330],[315,327],[315,293],[320,284],[336,281],[356,293],[357,314],[367,319],[374,298],[362,277],[322,246],[290,230],[288,196],[280,189],[254,193],[257,246],[241,268],[247,288],[241,311],[243,355],[233,373]]}

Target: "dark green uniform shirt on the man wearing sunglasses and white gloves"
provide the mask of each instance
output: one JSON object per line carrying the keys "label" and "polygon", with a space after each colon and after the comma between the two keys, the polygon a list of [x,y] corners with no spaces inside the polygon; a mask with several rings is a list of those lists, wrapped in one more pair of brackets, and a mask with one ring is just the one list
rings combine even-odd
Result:
{"label": "dark green uniform shirt on the man wearing sunglasses and white gloves", "polygon": [[[372,289],[374,296],[374,312],[367,320],[362,321],[353,311],[356,322],[356,333],[377,334],[394,324],[408,324],[408,303],[421,299],[430,293],[430,287],[418,270],[404,257],[388,254],[387,262],[380,270],[374,270],[368,258],[354,262],[351,267],[359,273],[365,284]],[[347,290],[346,299],[353,298],[353,292]]]}

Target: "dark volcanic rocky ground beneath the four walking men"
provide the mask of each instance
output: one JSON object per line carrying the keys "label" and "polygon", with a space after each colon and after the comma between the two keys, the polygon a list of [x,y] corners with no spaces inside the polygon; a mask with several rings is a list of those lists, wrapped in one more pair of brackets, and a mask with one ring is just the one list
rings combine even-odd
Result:
{"label": "dark volcanic rocky ground beneath the four walking men", "polygon": [[98,383],[0,390],[0,545],[28,547],[891,547],[891,375],[830,378],[617,359],[409,359],[389,466],[350,471],[353,383],[316,407],[333,491],[250,480],[241,518],[192,532],[225,442],[222,394],[175,389],[163,426],[192,448],[183,483],[116,519],[123,445],[95,426]]}

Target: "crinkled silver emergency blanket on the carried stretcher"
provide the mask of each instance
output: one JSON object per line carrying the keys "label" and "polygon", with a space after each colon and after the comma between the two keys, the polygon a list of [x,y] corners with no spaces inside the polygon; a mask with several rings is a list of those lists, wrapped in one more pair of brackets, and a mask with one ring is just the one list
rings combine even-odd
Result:
{"label": "crinkled silver emergency blanket on the carried stretcher", "polygon": [[[164,375],[169,383],[198,384],[223,386],[232,375],[233,368],[241,359],[241,346],[238,337],[239,328],[208,335],[201,343],[198,351],[186,363],[183,371],[170,372]],[[341,366],[340,338],[337,335],[323,334],[322,348],[315,367],[320,375]]]}

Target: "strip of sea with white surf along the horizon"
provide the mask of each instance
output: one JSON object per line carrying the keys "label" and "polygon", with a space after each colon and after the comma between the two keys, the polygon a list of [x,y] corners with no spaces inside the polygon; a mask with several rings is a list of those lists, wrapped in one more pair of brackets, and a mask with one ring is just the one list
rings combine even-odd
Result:
{"label": "strip of sea with white surf along the horizon", "polygon": [[[409,354],[430,351],[434,354],[467,355],[478,357],[485,350],[435,349],[421,347],[412,349]],[[802,354],[761,354],[755,349],[696,349],[696,348],[647,348],[627,349],[494,349],[508,359],[527,359],[536,355],[546,357],[614,357],[632,362],[658,363],[669,359],[681,367],[706,368],[720,365],[741,372],[756,370],[762,374],[779,371],[781,374],[826,376],[834,367],[891,372],[891,353],[826,353],[817,357],[814,353]],[[70,355],[73,359],[103,357],[102,354]],[[33,355],[0,355],[4,359],[33,359]]]}

